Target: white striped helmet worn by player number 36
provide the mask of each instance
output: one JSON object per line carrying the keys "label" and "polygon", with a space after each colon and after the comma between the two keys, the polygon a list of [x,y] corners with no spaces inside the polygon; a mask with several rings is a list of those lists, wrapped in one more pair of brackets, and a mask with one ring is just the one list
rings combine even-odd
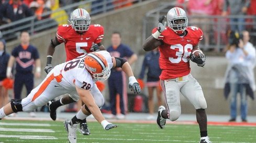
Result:
{"label": "white striped helmet worn by player number 36", "polygon": [[182,8],[174,7],[170,9],[166,18],[168,27],[175,33],[182,34],[187,29],[188,19],[185,10]]}

